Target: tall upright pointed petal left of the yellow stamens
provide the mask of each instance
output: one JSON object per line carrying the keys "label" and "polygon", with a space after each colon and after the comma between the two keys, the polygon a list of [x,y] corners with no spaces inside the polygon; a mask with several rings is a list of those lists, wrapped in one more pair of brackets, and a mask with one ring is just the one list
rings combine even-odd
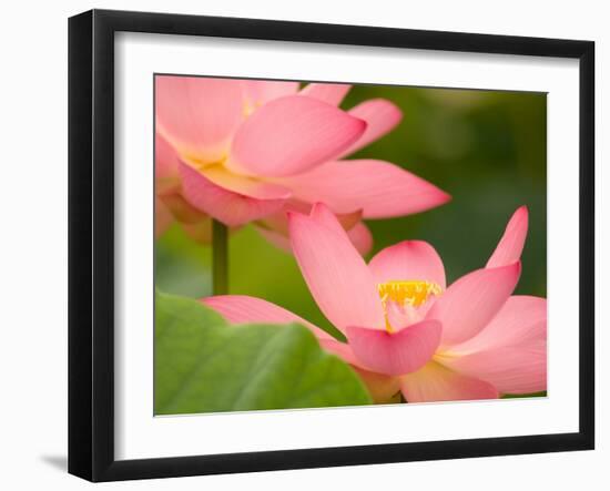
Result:
{"label": "tall upright pointed petal left of the yellow stamens", "polygon": [[[291,244],[318,307],[339,329],[384,329],[384,311],[373,275],[332,212],[318,205],[316,217],[288,215]],[[335,225],[328,222],[334,219]]]}

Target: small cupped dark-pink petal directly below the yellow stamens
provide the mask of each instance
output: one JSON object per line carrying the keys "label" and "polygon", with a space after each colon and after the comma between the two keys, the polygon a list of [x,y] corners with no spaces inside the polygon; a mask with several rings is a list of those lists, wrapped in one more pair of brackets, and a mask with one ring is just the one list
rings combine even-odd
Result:
{"label": "small cupped dark-pink petal directly below the yellow stamens", "polygon": [[404,375],[429,361],[440,342],[441,325],[423,320],[397,333],[349,326],[347,339],[356,358],[369,370]]}

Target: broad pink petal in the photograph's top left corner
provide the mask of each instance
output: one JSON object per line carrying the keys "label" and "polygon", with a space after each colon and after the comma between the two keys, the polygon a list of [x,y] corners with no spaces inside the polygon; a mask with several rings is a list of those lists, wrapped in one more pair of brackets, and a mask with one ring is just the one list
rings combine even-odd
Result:
{"label": "broad pink petal in the photograph's top left corner", "polygon": [[157,131],[182,155],[204,163],[225,157],[243,111],[240,80],[155,76]]}

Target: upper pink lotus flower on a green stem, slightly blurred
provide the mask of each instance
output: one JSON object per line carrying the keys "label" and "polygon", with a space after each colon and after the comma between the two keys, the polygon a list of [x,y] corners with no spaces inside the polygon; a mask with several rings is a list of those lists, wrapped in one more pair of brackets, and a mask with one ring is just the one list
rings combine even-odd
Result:
{"label": "upper pink lotus flower on a green stem, slightly blurred", "polygon": [[180,195],[226,224],[254,222],[287,244],[286,211],[324,202],[360,250],[370,248],[362,218],[423,212],[449,196],[430,183],[375,160],[342,161],[398,124],[383,99],[346,112],[345,84],[157,76],[156,129],[177,154]]}

